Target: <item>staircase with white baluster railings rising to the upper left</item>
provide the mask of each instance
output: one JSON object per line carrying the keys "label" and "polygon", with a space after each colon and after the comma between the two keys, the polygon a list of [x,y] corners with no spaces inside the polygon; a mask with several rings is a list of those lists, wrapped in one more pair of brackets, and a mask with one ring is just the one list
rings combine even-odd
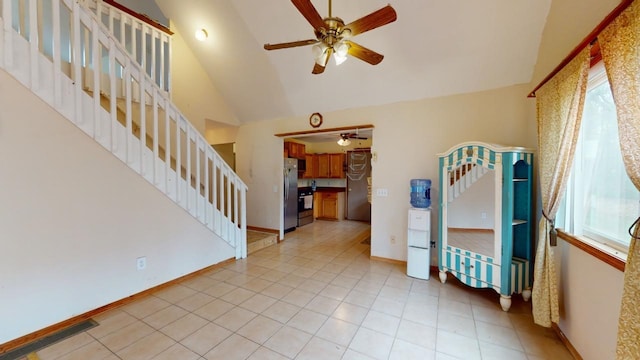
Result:
{"label": "staircase with white baluster railings rising to the upper left", "polygon": [[170,100],[170,32],[101,0],[0,0],[0,68],[247,256],[247,186]]}

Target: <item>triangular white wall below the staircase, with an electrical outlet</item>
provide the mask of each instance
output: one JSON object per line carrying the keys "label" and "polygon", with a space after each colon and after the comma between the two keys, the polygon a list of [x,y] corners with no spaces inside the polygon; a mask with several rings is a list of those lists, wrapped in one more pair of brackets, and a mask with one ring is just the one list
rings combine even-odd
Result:
{"label": "triangular white wall below the staircase, with an electrical outlet", "polygon": [[0,108],[0,344],[234,257],[2,70]]}

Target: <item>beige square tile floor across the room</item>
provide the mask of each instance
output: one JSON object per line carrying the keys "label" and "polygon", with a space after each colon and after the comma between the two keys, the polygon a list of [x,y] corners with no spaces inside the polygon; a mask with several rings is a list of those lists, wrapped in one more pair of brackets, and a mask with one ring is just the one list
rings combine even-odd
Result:
{"label": "beige square tile floor across the room", "polygon": [[571,359],[514,297],[369,259],[369,226],[316,221],[278,245],[96,317],[58,359]]}

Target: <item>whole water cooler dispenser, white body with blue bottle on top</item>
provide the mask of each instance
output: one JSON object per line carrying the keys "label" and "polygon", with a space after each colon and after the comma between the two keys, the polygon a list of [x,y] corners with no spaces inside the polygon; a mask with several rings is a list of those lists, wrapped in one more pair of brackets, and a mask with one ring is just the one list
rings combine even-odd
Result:
{"label": "whole water cooler dispenser, white body with blue bottle on top", "polygon": [[407,275],[429,279],[431,246],[431,180],[411,180],[411,206],[407,230]]}

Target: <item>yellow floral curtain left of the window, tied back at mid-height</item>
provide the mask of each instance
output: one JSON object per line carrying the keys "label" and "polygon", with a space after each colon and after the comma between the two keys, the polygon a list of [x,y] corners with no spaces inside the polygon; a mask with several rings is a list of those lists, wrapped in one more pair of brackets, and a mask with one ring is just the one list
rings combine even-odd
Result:
{"label": "yellow floral curtain left of the window, tied back at mid-height", "polygon": [[589,75],[587,46],[536,91],[538,172],[543,217],[538,225],[533,283],[533,319],[550,327],[560,319],[554,263],[554,219],[571,173]]}

